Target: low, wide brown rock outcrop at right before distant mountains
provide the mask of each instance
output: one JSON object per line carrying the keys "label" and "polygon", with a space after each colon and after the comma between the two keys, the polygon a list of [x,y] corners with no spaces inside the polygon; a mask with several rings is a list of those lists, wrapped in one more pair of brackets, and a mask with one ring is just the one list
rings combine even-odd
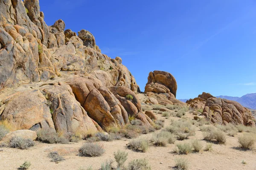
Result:
{"label": "low, wide brown rock outcrop at right before distant mountains", "polygon": [[256,126],[251,111],[232,100],[216,98],[209,93],[203,93],[186,103],[196,110],[203,108],[202,115],[212,123]]}

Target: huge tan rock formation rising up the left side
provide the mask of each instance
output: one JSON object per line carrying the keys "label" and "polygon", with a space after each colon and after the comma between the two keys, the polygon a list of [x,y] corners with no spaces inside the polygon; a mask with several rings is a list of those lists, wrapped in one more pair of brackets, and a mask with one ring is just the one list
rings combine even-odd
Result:
{"label": "huge tan rock formation rising up the left side", "polygon": [[47,26],[39,0],[0,6],[0,120],[64,133],[123,126],[128,115],[151,126],[134,77],[120,57],[101,53],[89,31],[65,30],[62,20]]}

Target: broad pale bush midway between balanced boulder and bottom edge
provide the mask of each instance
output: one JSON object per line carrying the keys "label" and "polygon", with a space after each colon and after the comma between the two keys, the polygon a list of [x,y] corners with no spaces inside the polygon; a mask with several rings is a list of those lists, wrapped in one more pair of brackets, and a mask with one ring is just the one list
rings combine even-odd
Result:
{"label": "broad pale bush midway between balanced boulder and bottom edge", "polygon": [[189,136],[195,135],[195,127],[186,120],[174,121],[172,125],[166,127],[166,130],[177,135],[179,140],[188,139]]}

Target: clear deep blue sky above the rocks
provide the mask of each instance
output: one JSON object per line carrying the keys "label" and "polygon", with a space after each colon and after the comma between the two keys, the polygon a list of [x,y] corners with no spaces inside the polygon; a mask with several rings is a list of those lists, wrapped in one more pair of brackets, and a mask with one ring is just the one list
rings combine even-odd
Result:
{"label": "clear deep blue sky above the rocks", "polygon": [[148,73],[171,73],[177,99],[256,93],[255,0],[41,0],[47,25],[89,30],[122,57],[144,91]]}

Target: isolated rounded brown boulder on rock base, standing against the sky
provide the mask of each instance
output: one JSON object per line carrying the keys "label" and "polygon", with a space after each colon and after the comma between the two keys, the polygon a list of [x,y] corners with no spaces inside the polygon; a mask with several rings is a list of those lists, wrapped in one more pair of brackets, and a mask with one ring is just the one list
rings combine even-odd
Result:
{"label": "isolated rounded brown boulder on rock base, standing against the sky", "polygon": [[146,104],[182,105],[185,103],[177,100],[177,82],[172,74],[165,71],[153,71],[148,75],[145,93],[148,96]]}

